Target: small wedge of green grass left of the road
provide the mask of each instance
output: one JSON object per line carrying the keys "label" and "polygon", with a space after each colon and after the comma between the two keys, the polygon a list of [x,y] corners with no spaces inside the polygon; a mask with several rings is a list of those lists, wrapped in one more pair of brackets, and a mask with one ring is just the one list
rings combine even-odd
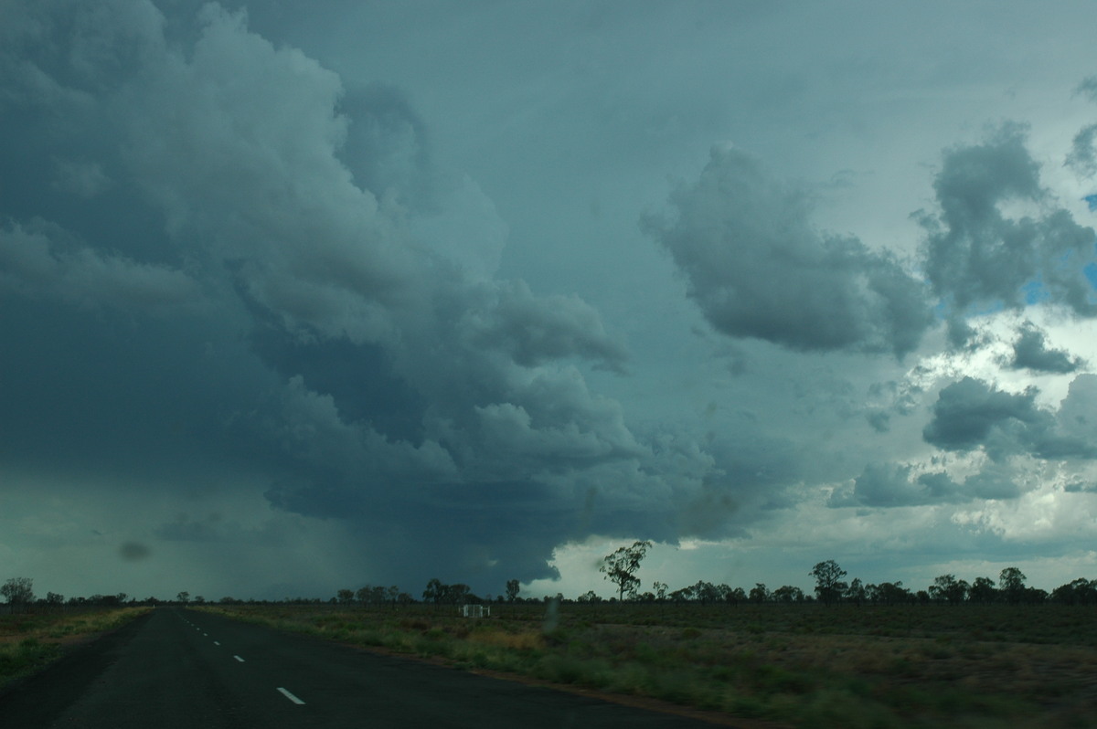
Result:
{"label": "small wedge of green grass left of the road", "polygon": [[61,657],[66,646],[113,630],[148,607],[86,607],[0,615],[0,688]]}

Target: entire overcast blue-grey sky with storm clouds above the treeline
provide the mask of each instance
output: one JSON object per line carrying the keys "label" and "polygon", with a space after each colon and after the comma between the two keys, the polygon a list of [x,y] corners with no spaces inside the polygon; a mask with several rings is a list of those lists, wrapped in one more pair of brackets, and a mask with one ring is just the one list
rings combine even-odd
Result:
{"label": "entire overcast blue-grey sky with storm clouds above the treeline", "polygon": [[1095,26],[0,0],[0,579],[1097,577]]}

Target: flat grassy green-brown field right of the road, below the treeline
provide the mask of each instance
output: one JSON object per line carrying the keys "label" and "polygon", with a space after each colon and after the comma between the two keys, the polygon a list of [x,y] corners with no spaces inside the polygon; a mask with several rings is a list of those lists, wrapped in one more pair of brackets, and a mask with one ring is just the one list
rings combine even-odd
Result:
{"label": "flat grassy green-brown field right of the road, below the treeline", "polygon": [[205,607],[331,640],[793,727],[1097,727],[1097,608]]}

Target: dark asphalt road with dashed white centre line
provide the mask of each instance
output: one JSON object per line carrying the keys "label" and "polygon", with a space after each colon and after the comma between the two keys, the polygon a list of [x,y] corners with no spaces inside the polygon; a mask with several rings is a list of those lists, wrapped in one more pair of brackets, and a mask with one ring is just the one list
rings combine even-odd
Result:
{"label": "dark asphalt road with dashed white centre line", "polygon": [[596,698],[160,608],[0,694],[0,727],[709,727]]}

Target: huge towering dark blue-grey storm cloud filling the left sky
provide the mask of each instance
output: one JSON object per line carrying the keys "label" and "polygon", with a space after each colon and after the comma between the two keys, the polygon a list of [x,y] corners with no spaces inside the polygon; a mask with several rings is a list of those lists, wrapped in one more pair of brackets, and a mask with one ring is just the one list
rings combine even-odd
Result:
{"label": "huge towering dark blue-grey storm cloud filling the left sky", "polygon": [[579,363],[627,361],[596,309],[489,277],[500,225],[433,169],[398,90],[348,93],[216,4],[9,7],[0,159],[30,173],[0,196],[7,458],[265,481],[278,509],[355,524],[393,579],[544,576],[592,529],[676,537],[711,462],[660,464],[588,389]]}

